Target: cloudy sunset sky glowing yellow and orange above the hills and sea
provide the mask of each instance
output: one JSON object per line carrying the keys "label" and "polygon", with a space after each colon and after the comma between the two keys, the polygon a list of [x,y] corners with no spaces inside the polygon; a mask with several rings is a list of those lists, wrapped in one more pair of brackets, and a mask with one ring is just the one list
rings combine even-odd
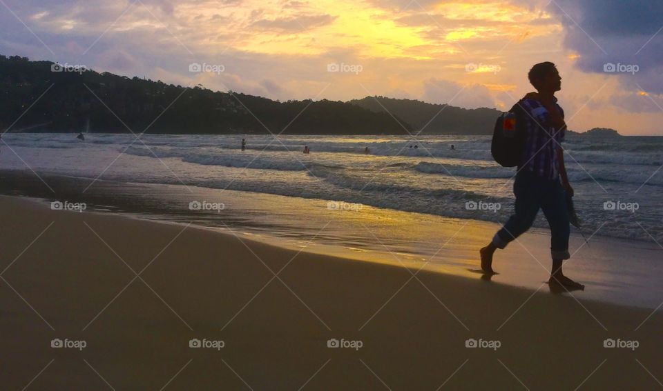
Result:
{"label": "cloudy sunset sky glowing yellow and orange above the hills and sea", "polygon": [[0,54],[271,99],[501,110],[553,61],[571,130],[663,135],[662,15],[663,1],[0,0]]}

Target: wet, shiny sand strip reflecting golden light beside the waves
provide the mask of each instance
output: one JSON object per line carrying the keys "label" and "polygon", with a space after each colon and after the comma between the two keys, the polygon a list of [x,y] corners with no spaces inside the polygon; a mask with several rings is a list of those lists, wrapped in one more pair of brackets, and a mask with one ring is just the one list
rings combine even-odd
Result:
{"label": "wet, shiny sand strip reflecting golden light beside the waves", "polygon": [[[403,264],[470,279],[479,274],[478,250],[499,229],[497,223],[439,217],[364,205],[358,211],[329,210],[327,201],[157,183],[98,181],[81,194],[89,181],[80,177],[49,176],[44,179],[57,197],[34,174],[6,172],[4,194],[60,201],[86,202],[103,213],[119,213],[148,221],[197,225],[216,232],[230,230],[242,238],[256,239],[289,250],[329,254],[372,263]],[[223,201],[217,212],[191,211],[191,200]],[[663,299],[663,265],[660,250],[644,241],[588,234],[590,243],[572,232],[565,265],[569,277],[586,285],[575,292],[582,299],[639,308],[657,308]],[[533,228],[519,241],[497,254],[501,273],[493,282],[546,289],[550,273],[549,232]],[[443,250],[443,251],[441,251]],[[631,259],[629,262],[624,260]],[[566,294],[566,293],[564,293]]]}

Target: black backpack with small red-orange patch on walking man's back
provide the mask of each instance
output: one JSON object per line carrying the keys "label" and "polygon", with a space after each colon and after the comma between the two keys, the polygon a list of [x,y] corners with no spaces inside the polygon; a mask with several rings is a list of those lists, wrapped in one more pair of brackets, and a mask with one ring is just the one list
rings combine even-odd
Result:
{"label": "black backpack with small red-orange patch on walking man's back", "polygon": [[504,116],[502,113],[495,122],[495,127],[492,132],[492,143],[490,144],[490,153],[493,159],[497,161],[502,167],[516,167],[519,166],[523,159],[525,152],[525,141],[527,137],[527,113],[522,106],[522,101],[518,101],[511,110],[516,114],[516,126],[513,130],[513,137],[506,137],[502,128],[504,123]]}

